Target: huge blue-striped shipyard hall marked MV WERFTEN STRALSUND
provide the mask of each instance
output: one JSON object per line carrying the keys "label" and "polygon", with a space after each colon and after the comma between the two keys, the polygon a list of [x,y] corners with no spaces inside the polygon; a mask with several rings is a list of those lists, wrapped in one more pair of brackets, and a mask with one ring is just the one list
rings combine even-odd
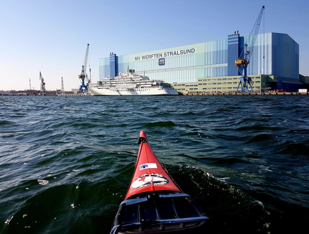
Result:
{"label": "huge blue-striped shipyard hall marked MV WERFTEN STRALSUND", "polygon": [[[181,93],[235,92],[241,72],[235,66],[251,44],[249,36],[239,33],[226,39],[169,49],[99,58],[99,79],[112,78],[129,69],[152,80],[170,83]],[[254,92],[296,91],[299,81],[299,45],[284,33],[258,34],[247,75]]]}

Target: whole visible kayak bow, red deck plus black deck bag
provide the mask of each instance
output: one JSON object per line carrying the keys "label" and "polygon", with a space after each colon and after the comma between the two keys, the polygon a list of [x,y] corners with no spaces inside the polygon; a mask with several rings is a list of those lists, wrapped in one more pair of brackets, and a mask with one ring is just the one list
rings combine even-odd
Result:
{"label": "whole visible kayak bow, red deck plus black deck bag", "polygon": [[183,193],[151,150],[144,131],[133,177],[110,234],[205,231],[209,218]]}

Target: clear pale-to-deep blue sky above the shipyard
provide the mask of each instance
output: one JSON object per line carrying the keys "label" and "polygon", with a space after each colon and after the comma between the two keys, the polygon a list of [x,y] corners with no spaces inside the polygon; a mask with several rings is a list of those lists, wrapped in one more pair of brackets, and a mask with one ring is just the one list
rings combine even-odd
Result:
{"label": "clear pale-to-deep blue sky above the shipyard", "polygon": [[[309,1],[2,1],[0,90],[77,88],[87,43],[92,81],[98,58],[247,36],[265,5],[265,32],[299,44],[299,73],[309,75]],[[263,21],[262,21],[263,22]],[[263,32],[263,25],[259,33]],[[88,66],[89,67],[89,66]]]}

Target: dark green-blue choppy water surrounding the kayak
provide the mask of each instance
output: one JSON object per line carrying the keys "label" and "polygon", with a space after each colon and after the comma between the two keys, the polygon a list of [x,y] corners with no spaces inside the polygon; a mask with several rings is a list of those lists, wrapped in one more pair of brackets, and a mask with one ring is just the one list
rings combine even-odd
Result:
{"label": "dark green-blue choppy water surrounding the kayak", "polygon": [[141,130],[214,233],[308,231],[309,96],[0,103],[0,233],[109,233]]}

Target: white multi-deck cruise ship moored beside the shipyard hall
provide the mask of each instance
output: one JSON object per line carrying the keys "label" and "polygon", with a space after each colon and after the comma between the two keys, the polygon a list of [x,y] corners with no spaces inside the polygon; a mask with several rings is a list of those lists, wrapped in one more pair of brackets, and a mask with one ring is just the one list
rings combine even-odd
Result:
{"label": "white multi-deck cruise ship moored beside the shipyard hall", "polygon": [[134,70],[126,70],[114,78],[104,78],[97,83],[90,83],[88,91],[92,96],[100,95],[178,95],[171,84],[163,80],[150,80],[140,76]]}

